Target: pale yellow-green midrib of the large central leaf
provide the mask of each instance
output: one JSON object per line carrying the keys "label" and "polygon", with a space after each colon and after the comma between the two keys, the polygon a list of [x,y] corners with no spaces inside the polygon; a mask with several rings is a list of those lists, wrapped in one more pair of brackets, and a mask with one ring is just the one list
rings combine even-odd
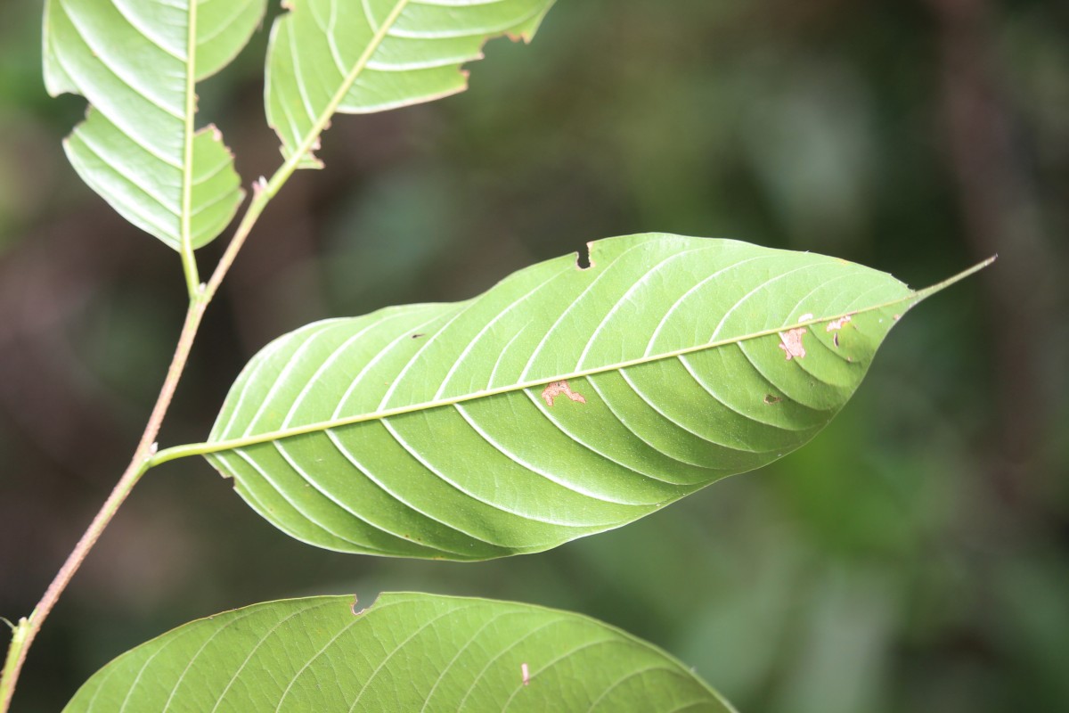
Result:
{"label": "pale yellow-green midrib of the large central leaf", "polygon": [[[973,268],[977,269],[977,268]],[[972,272],[972,270],[970,270]],[[650,354],[635,359],[628,359],[624,361],[617,361],[609,365],[603,365],[600,367],[592,367],[590,369],[580,369],[564,374],[556,374],[553,376],[543,376],[536,379],[530,379],[526,382],[518,382],[514,384],[508,384],[505,386],[499,386],[493,389],[481,389],[479,391],[471,391],[468,393],[462,393],[454,397],[449,397],[446,399],[433,399],[431,401],[422,401],[415,404],[408,404],[406,406],[396,406],[393,408],[383,408],[374,412],[369,412],[365,414],[358,414],[356,416],[346,416],[344,418],[328,419],[323,421],[313,421],[311,423],[306,423],[304,425],[296,425],[289,429],[279,429],[276,431],[268,431],[252,436],[243,436],[241,438],[228,438],[223,440],[216,441],[205,441],[200,444],[189,444],[185,446],[174,446],[172,448],[167,448],[157,452],[150,462],[150,467],[166,463],[168,461],[173,461],[180,458],[187,458],[189,455],[207,455],[211,453],[218,453],[221,451],[237,450],[239,448],[246,448],[248,446],[257,446],[266,443],[272,443],[274,440],[281,440],[283,438],[291,438],[294,436],[307,435],[309,433],[320,433],[324,431],[329,431],[331,429],[338,429],[345,425],[355,425],[357,423],[363,423],[367,421],[376,421],[394,416],[403,416],[405,414],[418,413],[423,410],[430,410],[433,408],[441,408],[444,406],[451,406],[459,403],[465,403],[468,401],[475,401],[478,399],[484,399],[487,397],[500,396],[502,393],[512,393],[516,391],[523,391],[525,389],[530,389],[539,386],[545,386],[546,384],[552,384],[554,382],[569,381],[574,378],[583,378],[586,376],[593,376],[595,374],[603,374],[613,371],[620,371],[628,369],[630,367],[637,367],[644,363],[651,363],[654,361],[662,361],[665,359],[672,359],[680,356],[685,356],[687,354],[694,354],[696,352],[703,352],[706,350],[718,348],[721,346],[727,346],[729,344],[738,344],[740,342],[745,342],[754,339],[760,339],[762,337],[770,337],[772,335],[777,335],[781,331],[787,331],[789,329],[797,329],[800,327],[808,327],[815,324],[824,324],[834,320],[841,319],[848,314],[863,314],[866,312],[872,312],[876,310],[885,309],[888,307],[894,307],[895,305],[901,305],[907,301],[920,301],[925,297],[938,292],[943,289],[950,281],[957,281],[961,277],[964,277],[965,273],[961,276],[956,276],[950,278],[950,280],[940,283],[939,285],[928,288],[926,290],[911,292],[904,297],[894,299],[887,303],[882,303],[880,305],[873,305],[863,309],[850,310],[848,312],[841,312],[833,314],[830,316],[815,317],[811,320],[806,320],[804,322],[795,322],[793,324],[787,324],[780,327],[773,327],[770,329],[763,329],[760,331],[750,332],[747,335],[740,335],[738,337],[731,337],[728,339],[722,339],[713,342],[707,342],[706,344],[698,344],[695,346],[686,346],[679,350],[672,350],[669,352],[661,352],[657,354]]]}

